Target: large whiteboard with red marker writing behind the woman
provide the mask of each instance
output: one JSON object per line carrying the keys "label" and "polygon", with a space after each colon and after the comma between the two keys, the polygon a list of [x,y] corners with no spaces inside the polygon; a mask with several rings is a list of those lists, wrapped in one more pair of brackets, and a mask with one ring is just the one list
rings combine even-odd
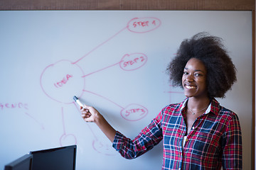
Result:
{"label": "large whiteboard with red marker writing behind the woman", "polygon": [[243,169],[252,133],[251,11],[0,11],[0,166],[33,150],[78,145],[77,169],[161,169],[162,143],[122,158],[73,96],[127,137],[185,98],[167,64],[185,38],[223,38],[238,82],[222,106],[238,114]]}

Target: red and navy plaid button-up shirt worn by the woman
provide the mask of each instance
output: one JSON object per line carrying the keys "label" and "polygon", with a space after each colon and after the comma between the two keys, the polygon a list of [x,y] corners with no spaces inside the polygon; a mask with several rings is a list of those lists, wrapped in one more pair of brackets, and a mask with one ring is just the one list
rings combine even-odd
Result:
{"label": "red and navy plaid button-up shirt worn by the woman", "polygon": [[186,98],[162,109],[134,140],[117,132],[113,147],[127,159],[152,149],[164,139],[162,170],[242,169],[242,136],[238,115],[213,98],[206,113],[196,119],[186,135]]}

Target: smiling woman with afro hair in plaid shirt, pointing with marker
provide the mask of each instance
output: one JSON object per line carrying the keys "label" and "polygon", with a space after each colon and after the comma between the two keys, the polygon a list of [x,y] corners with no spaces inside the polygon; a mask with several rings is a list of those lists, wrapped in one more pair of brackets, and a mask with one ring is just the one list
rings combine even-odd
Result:
{"label": "smiling woman with afro hair in plaid shirt, pointing with marker", "polygon": [[242,169],[242,136],[238,115],[216,101],[236,81],[236,70],[220,38],[198,33],[184,40],[167,68],[171,83],[186,99],[170,104],[134,140],[114,130],[93,107],[82,118],[96,123],[127,159],[164,140],[162,169]]}

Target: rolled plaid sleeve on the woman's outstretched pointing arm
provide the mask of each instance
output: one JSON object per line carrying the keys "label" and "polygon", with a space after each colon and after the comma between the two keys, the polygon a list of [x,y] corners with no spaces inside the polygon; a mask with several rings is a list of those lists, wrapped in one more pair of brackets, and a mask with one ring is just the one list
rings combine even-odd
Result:
{"label": "rolled plaid sleeve on the woman's outstretched pointing arm", "polygon": [[134,140],[117,132],[112,147],[126,159],[134,159],[152,149],[163,139],[161,113],[144,128]]}

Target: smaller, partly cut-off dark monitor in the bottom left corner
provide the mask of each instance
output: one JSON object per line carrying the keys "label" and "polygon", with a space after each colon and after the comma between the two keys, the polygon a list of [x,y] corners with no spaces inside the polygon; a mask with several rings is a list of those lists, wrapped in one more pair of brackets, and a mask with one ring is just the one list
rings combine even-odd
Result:
{"label": "smaller, partly cut-off dark monitor in the bottom left corner", "polygon": [[4,166],[4,170],[31,170],[33,155],[25,154],[10,164]]}

